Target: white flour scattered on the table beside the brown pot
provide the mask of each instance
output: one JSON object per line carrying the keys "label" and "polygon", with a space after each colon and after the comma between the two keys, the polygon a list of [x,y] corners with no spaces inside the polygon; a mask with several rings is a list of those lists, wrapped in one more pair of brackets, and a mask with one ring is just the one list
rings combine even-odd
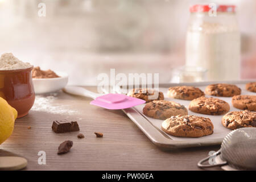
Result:
{"label": "white flour scattered on the table beside the brown pot", "polygon": [[44,111],[51,114],[76,114],[76,110],[71,110],[65,105],[57,105],[58,93],[51,93],[48,95],[38,95],[35,97],[34,106],[31,108],[33,111]]}

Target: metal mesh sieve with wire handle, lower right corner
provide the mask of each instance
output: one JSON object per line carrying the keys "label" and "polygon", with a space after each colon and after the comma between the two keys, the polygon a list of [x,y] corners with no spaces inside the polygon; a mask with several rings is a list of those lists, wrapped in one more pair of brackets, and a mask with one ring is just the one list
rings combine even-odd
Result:
{"label": "metal mesh sieve with wire handle, lower right corner", "polygon": [[[221,160],[214,164],[203,164],[209,158],[220,155]],[[229,165],[240,170],[256,169],[256,128],[246,127],[231,131],[221,143],[221,148],[214,154],[197,163],[199,167]]]}

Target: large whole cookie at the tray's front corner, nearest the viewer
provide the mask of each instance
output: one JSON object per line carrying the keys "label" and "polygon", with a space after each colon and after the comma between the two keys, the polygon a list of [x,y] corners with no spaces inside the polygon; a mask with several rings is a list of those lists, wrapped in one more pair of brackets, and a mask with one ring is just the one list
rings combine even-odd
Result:
{"label": "large whole cookie at the tray's front corner, nearest the viewer", "polygon": [[196,115],[177,115],[164,120],[162,130],[176,137],[203,137],[213,133],[209,118]]}

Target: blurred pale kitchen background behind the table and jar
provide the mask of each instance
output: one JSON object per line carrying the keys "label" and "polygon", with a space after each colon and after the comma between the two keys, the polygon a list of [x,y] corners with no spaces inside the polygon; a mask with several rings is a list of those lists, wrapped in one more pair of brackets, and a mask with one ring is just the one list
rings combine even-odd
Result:
{"label": "blurred pale kitchen background behind the table and jar", "polygon": [[[46,17],[38,3],[46,3]],[[223,1],[189,0],[1,0],[0,53],[70,75],[69,84],[96,85],[110,68],[122,73],[160,73],[184,64],[189,6]],[[238,6],[242,77],[256,78],[256,1]]]}

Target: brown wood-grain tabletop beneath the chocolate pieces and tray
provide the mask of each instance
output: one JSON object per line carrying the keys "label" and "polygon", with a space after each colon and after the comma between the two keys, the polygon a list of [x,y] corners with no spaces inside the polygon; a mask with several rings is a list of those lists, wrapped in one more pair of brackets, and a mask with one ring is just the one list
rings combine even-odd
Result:
{"label": "brown wood-grain tabletop beneath the chocolate pieces and tray", "polygon": [[[23,156],[28,160],[26,170],[200,170],[197,162],[210,151],[220,148],[163,151],[152,144],[121,110],[89,105],[90,98],[63,92],[55,97],[56,106],[76,112],[30,111],[26,117],[16,120],[13,135],[0,145],[0,156]],[[77,121],[80,132],[53,133],[52,122],[57,119]],[[31,126],[30,130],[28,126]],[[96,138],[95,131],[100,131],[104,137]],[[79,133],[85,138],[78,139]],[[73,141],[71,151],[57,155],[59,144],[65,140]],[[46,152],[46,165],[38,164],[39,151]]]}

